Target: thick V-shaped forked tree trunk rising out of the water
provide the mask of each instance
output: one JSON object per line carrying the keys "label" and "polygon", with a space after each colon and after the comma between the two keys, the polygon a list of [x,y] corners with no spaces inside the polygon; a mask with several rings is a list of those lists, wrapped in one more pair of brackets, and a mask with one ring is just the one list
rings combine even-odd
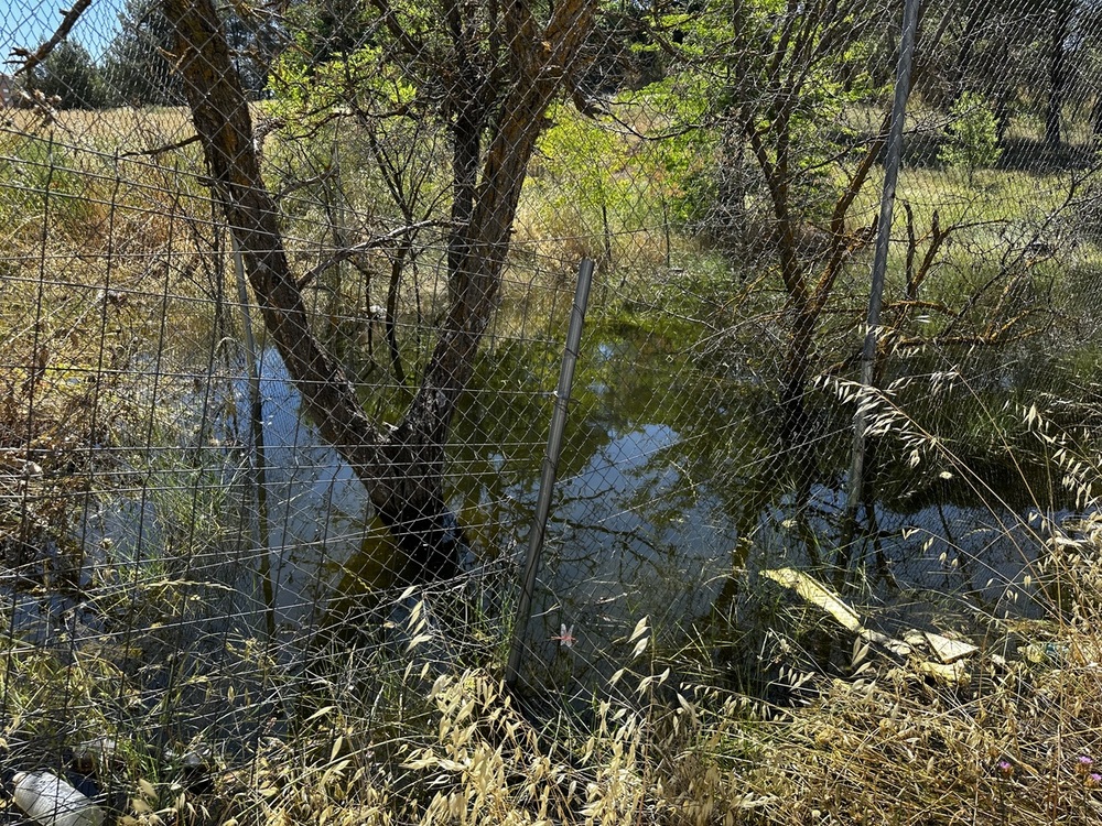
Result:
{"label": "thick V-shaped forked tree trunk rising out of the water", "polygon": [[[588,33],[593,0],[557,3],[542,31],[522,0],[510,3],[505,14],[512,35],[506,56],[508,83],[498,87],[506,91],[494,101],[494,131],[484,155],[476,159],[477,185],[472,187],[466,164],[455,170],[465,180],[455,187],[462,202],[453,215],[461,226],[449,244],[447,316],[413,402],[401,423],[386,432],[364,413],[348,378],[310,329],[213,1],[163,2],[176,30],[177,67],[216,196],[242,251],[264,325],[304,407],[355,469],[393,533],[406,556],[392,566],[396,578],[447,576],[455,567],[455,525],[444,498],[444,446],[498,296],[528,162],[547,110]],[[465,121],[461,117],[458,122]],[[456,137],[468,141],[460,152],[469,159],[469,130]]]}

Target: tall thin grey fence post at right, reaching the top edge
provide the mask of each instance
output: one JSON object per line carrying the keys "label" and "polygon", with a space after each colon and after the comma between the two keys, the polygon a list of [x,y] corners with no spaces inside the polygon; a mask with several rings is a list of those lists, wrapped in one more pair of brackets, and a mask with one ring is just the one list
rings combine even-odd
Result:
{"label": "tall thin grey fence post at right, reaching the top edge", "polygon": [[892,101],[892,123],[888,128],[887,146],[884,150],[884,189],[880,193],[880,215],[876,224],[876,251],[873,258],[872,286],[868,291],[865,344],[861,351],[862,392],[857,396],[857,410],[853,414],[853,448],[850,454],[850,478],[842,523],[840,553],[845,555],[845,559],[849,559],[850,543],[853,542],[856,534],[857,510],[861,508],[864,485],[866,399],[873,387],[873,371],[876,366],[876,341],[884,295],[884,273],[888,265],[892,207],[895,205],[895,187],[899,178],[899,161],[903,155],[903,122],[907,115],[907,97],[910,93],[910,64],[918,31],[918,6],[919,0],[905,0],[903,36],[899,41],[899,63],[896,67],[895,98]]}

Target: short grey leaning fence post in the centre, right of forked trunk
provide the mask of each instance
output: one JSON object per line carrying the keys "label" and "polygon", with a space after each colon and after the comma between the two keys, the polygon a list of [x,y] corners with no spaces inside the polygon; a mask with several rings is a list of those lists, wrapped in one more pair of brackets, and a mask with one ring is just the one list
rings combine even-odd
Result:
{"label": "short grey leaning fence post in the centre, right of forked trunk", "polygon": [[566,332],[566,347],[559,370],[559,389],[554,394],[554,412],[551,414],[551,432],[548,435],[548,452],[543,457],[540,474],[540,496],[536,503],[532,530],[528,535],[528,553],[525,555],[525,578],[517,602],[517,617],[512,623],[512,641],[509,644],[509,663],[505,670],[505,684],[516,688],[520,676],[520,655],[528,634],[528,620],[532,612],[532,595],[536,590],[536,574],[543,552],[548,514],[551,512],[551,493],[559,471],[559,453],[562,449],[562,434],[566,427],[566,405],[570,389],[574,382],[574,365],[577,348],[582,343],[582,325],[585,307],[590,301],[590,285],[593,283],[593,261],[585,258],[577,268],[577,286],[574,290],[574,306],[570,312],[570,328]]}

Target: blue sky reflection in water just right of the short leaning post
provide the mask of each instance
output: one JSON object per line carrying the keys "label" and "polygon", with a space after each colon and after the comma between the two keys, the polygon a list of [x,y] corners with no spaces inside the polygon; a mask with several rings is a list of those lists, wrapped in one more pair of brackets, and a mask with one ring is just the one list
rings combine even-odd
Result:
{"label": "blue sky reflection in water just right of the short leaning post", "polygon": [[531,629],[545,655],[555,643],[540,641],[562,624],[574,627],[583,656],[608,651],[642,617],[660,631],[683,627],[707,610],[732,564],[734,524],[717,500],[687,496],[691,482],[669,461],[678,434],[648,424],[609,435],[559,485]]}

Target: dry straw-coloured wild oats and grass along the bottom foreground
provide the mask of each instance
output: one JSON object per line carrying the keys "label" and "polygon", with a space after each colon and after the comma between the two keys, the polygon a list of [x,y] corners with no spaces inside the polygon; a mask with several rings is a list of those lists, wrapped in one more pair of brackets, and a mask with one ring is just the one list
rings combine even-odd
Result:
{"label": "dry straw-coloured wild oats and grass along the bottom foreground", "polygon": [[717,688],[655,683],[609,689],[587,725],[534,721],[485,671],[411,678],[404,722],[326,703],[219,792],[239,824],[1096,823],[1102,648],[1046,633],[1067,653],[985,652],[966,686],[907,664],[813,677],[819,699],[769,721]]}

